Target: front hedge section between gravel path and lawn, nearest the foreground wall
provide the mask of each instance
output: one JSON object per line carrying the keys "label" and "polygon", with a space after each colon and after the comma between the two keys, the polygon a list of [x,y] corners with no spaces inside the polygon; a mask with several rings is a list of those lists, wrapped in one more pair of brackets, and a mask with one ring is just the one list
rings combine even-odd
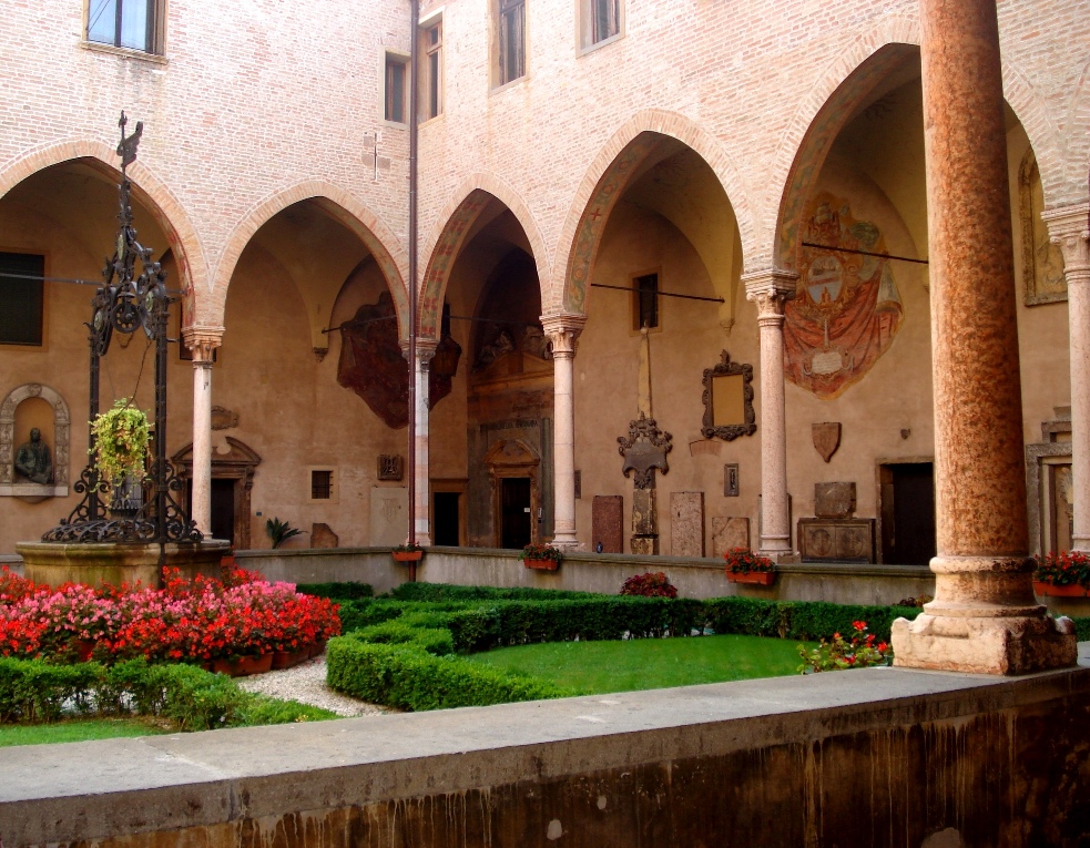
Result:
{"label": "front hedge section between gravel path and lawn, nearest the foreground wall", "polygon": [[401,709],[448,709],[573,693],[456,656],[434,656],[412,645],[373,644],[350,636],[329,640],[327,682],[337,692]]}

